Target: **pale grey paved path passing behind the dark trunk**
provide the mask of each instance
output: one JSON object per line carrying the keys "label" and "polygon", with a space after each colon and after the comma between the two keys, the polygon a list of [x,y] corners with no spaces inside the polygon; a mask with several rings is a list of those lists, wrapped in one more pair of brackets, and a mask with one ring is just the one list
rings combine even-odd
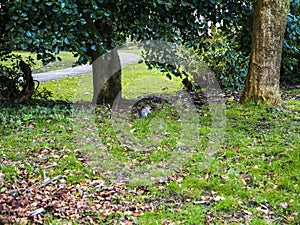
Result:
{"label": "pale grey paved path passing behind the dark trunk", "polygon": [[[119,52],[119,57],[121,61],[121,66],[137,62],[141,59],[141,57],[137,54],[133,53],[125,53]],[[38,80],[39,82],[49,81],[49,80],[57,80],[63,77],[72,77],[78,74],[84,74],[92,72],[92,65],[83,65],[76,66],[72,68],[66,68],[62,70],[54,70],[44,73],[36,73],[33,74],[33,79]]]}

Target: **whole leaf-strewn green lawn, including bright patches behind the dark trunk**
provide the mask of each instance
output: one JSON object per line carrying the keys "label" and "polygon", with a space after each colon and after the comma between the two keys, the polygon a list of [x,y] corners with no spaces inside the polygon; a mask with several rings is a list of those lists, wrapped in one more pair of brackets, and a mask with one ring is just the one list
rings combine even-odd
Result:
{"label": "whole leaf-strewn green lawn, including bright patches behind the dark trunk", "polygon": [[[142,64],[122,79],[127,100],[181,89]],[[79,109],[91,74],[41,87],[52,100],[1,103],[0,224],[300,223],[299,90],[284,110],[227,101],[218,130],[213,104]]]}

